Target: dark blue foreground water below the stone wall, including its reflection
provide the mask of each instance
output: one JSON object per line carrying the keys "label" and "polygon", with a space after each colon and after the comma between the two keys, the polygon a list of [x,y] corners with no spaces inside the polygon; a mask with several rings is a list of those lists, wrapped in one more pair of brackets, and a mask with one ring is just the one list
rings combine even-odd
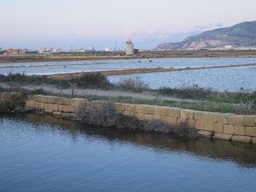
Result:
{"label": "dark blue foreground water below the stone wall, including its reflection", "polygon": [[255,145],[0,117],[0,191],[255,191]]}

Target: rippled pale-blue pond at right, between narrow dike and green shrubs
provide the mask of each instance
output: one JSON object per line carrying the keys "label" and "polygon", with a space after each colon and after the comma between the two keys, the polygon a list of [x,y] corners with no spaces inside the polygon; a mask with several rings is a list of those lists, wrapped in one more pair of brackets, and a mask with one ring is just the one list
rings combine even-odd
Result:
{"label": "rippled pale-blue pond at right, between narrow dike and green shrubs", "polygon": [[151,88],[192,86],[213,88],[218,91],[256,91],[256,67],[228,67],[211,68],[205,70],[171,71],[160,73],[144,73],[133,75],[109,76],[111,82],[117,82],[126,78],[139,77],[149,84]]}

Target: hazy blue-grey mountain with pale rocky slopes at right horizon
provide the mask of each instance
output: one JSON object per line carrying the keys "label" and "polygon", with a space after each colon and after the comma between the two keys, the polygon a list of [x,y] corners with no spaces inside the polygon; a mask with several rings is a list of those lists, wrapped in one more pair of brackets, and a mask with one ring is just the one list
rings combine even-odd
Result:
{"label": "hazy blue-grey mountain with pale rocky slopes at right horizon", "polygon": [[157,46],[163,50],[200,50],[206,48],[256,45],[256,21],[235,24],[232,27],[205,31],[186,37],[181,42],[164,43]]}

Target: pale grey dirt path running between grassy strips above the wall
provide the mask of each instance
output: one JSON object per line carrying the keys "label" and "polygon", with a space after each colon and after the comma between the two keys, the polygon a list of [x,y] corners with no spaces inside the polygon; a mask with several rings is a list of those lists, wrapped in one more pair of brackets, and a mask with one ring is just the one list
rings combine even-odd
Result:
{"label": "pale grey dirt path running between grassy strips above the wall", "polygon": [[[6,83],[0,83],[0,85],[4,88],[10,88],[11,86],[7,85]],[[58,89],[55,86],[44,85],[44,86],[21,86],[26,90],[36,90],[36,89],[43,89],[44,91],[51,92],[54,94],[67,94],[72,95],[71,88],[67,89]],[[85,96],[85,95],[97,95],[97,96],[108,96],[108,97],[133,97],[135,99],[161,99],[161,100],[169,100],[169,101],[195,101],[189,99],[178,99],[175,97],[164,97],[164,96],[157,96],[154,93],[145,92],[145,93],[134,93],[134,92],[127,92],[127,91],[116,91],[116,90],[99,90],[99,89],[76,89],[75,93],[77,96]],[[200,101],[198,101],[200,102]]]}

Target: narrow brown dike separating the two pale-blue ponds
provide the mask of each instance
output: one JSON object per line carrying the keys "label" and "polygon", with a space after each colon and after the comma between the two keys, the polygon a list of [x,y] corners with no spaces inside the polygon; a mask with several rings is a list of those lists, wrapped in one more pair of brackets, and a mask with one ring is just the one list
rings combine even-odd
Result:
{"label": "narrow brown dike separating the two pale-blue ponds", "polygon": [[[210,68],[227,68],[227,67],[245,67],[245,66],[256,66],[256,63],[238,64],[238,65],[223,65],[223,66],[206,66],[206,67],[186,67],[186,68],[132,68],[125,70],[110,70],[110,71],[97,71],[101,75],[105,76],[117,76],[117,75],[129,75],[138,73],[156,73],[156,72],[169,72],[169,71],[188,71],[188,70],[206,70]],[[90,72],[76,72],[76,73],[59,73],[54,75],[47,75],[49,78],[67,78],[67,77],[79,77],[85,73],[96,73]]]}

